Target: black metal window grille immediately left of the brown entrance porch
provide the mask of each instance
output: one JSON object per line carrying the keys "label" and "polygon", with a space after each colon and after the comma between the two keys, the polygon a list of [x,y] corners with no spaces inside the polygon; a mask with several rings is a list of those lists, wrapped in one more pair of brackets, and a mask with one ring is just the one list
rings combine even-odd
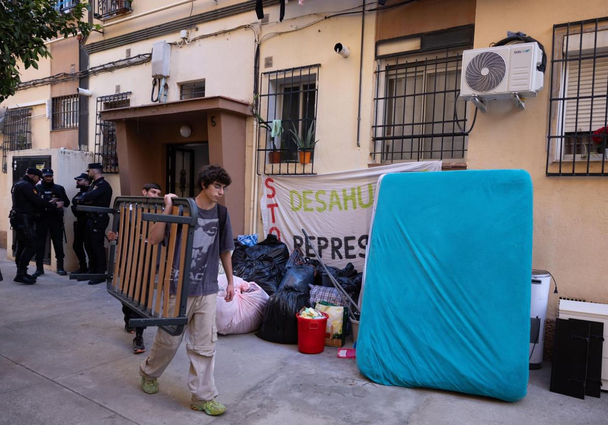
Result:
{"label": "black metal window grille immediately left of the brown entrance porch", "polygon": [[102,110],[129,106],[129,95],[131,92],[115,95],[101,96],[97,98],[97,124],[95,125],[95,161],[101,163],[103,172],[116,173],[118,168],[118,151],[116,144],[116,124],[112,121],[102,120]]}

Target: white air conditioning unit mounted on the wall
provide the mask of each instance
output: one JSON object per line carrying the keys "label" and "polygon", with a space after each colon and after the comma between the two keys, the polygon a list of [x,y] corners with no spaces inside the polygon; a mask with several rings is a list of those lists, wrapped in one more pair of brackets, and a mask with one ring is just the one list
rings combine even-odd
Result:
{"label": "white air conditioning unit mounted on the wall", "polygon": [[483,101],[534,97],[542,89],[542,50],[537,42],[465,50],[460,96]]}

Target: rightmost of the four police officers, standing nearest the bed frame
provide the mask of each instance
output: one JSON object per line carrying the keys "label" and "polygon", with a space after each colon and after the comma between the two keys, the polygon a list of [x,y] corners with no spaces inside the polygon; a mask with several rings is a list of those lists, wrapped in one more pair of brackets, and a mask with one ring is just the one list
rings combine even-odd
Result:
{"label": "rightmost of the four police officers, standing nearest the bed frame", "polygon": [[[87,206],[109,208],[112,199],[112,188],[103,178],[102,165],[91,163],[86,171],[91,179],[91,188],[81,196],[81,202]],[[103,274],[106,271],[106,248],[103,245],[109,216],[104,213],[88,213],[86,221],[86,247],[89,253],[89,273]],[[105,279],[91,279],[89,285],[97,285]]]}

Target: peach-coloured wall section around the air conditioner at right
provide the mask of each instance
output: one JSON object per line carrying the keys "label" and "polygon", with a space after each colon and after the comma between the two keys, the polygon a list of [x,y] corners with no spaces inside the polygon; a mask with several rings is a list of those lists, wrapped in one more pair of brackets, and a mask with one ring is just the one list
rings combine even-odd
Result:
{"label": "peach-coloured wall section around the air conditioner at right", "polygon": [[[477,1],[475,47],[488,46],[512,30],[533,36],[550,51],[553,24],[606,16],[606,10],[605,0]],[[550,271],[559,283],[559,295],[550,291],[548,316],[555,317],[559,296],[608,302],[608,179],[545,175],[549,84],[547,72],[545,88],[527,100],[523,111],[510,101],[492,101],[487,114],[478,115],[469,135],[468,167],[530,172],[533,267]]]}

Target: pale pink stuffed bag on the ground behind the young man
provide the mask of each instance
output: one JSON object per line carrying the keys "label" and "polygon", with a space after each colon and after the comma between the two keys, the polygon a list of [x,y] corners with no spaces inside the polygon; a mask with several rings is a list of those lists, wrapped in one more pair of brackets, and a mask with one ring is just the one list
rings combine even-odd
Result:
{"label": "pale pink stuffed bag on the ground behind the young man", "polygon": [[258,330],[262,323],[264,307],[268,301],[268,294],[255,282],[243,281],[234,276],[234,298],[226,302],[226,274],[218,276],[218,300],[215,323],[218,333],[230,335],[232,333],[247,333]]}

